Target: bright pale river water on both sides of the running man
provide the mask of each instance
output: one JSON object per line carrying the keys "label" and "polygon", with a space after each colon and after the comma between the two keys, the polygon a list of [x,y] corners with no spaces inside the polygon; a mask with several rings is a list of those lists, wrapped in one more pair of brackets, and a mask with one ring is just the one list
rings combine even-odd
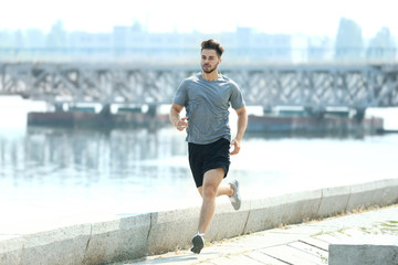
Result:
{"label": "bright pale river water on both sides of the running man", "polygon": [[[44,108],[43,104],[14,98],[0,103],[3,222],[200,205],[188,166],[185,132],[171,127],[27,127],[27,112]],[[396,114],[389,114],[390,128]],[[239,179],[242,198],[256,199],[397,178],[397,134],[292,137],[248,132],[241,152],[231,158],[224,181]]]}

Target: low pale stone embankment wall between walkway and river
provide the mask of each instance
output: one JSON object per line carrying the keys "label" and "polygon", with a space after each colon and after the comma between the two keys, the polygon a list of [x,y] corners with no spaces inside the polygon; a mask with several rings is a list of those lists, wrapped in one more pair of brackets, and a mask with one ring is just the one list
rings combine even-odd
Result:
{"label": "low pale stone embankment wall between walkway and river", "polygon": [[[231,239],[357,209],[391,205],[397,201],[398,179],[387,179],[243,201],[238,212],[222,203],[217,208],[206,237],[209,242]],[[199,208],[189,208],[107,216],[25,233],[12,230],[12,224],[1,225],[0,264],[31,264],[32,261],[36,264],[104,264],[187,250],[198,214]]]}

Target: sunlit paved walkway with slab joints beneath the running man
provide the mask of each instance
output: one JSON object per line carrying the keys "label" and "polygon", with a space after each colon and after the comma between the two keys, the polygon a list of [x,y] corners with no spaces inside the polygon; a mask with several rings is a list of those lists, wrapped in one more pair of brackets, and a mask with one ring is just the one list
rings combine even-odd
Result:
{"label": "sunlit paved walkway with slab joints beneath the running man", "polygon": [[329,244],[339,243],[398,245],[398,204],[207,242],[199,255],[177,250],[112,265],[321,265],[328,264]]}

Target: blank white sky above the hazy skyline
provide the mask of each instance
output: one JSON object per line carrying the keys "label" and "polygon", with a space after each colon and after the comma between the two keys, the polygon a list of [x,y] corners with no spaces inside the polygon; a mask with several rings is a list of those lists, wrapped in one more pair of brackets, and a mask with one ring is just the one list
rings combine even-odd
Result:
{"label": "blank white sky above the hazy skyline", "polygon": [[250,26],[265,33],[335,38],[341,18],[356,21],[364,38],[383,26],[398,36],[396,0],[12,0],[0,3],[0,30],[41,29],[57,20],[66,31],[112,32],[142,23],[149,32],[232,32]]}

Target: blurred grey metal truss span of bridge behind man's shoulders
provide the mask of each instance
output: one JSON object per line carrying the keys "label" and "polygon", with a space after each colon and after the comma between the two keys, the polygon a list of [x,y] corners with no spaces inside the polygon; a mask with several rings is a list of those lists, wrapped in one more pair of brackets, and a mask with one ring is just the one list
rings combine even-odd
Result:
{"label": "blurred grey metal truss span of bridge behind man's shoulders", "polygon": [[[170,104],[195,66],[0,64],[0,95],[49,103]],[[222,66],[248,105],[327,107],[398,106],[396,65]]]}

